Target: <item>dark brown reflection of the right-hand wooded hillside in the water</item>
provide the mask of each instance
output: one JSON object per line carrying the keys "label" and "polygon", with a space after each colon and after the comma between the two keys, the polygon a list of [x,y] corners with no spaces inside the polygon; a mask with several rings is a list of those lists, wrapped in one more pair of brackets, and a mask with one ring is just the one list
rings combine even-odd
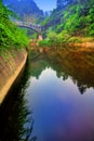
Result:
{"label": "dark brown reflection of the right-hand wooded hillside in the water", "polygon": [[[71,77],[75,85],[78,86],[80,93],[84,93],[86,88],[94,88],[94,62],[88,60],[90,54],[82,52],[70,52],[69,50],[51,51],[46,55],[46,61],[57,73],[57,77],[66,80]],[[94,55],[91,52],[91,59]]]}

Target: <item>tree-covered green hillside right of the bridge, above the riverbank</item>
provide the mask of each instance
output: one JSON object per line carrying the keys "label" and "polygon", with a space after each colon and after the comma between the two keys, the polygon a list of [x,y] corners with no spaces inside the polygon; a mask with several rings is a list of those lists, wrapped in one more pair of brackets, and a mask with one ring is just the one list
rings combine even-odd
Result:
{"label": "tree-covered green hillside right of the bridge, above the riverbank", "polygon": [[58,42],[94,40],[94,0],[71,0],[69,4],[52,12],[42,22],[44,38]]}

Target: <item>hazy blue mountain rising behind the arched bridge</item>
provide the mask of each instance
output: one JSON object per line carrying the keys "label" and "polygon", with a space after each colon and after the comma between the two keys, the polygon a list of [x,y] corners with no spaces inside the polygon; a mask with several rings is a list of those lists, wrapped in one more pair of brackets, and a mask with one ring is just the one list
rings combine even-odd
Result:
{"label": "hazy blue mountain rising behind the arched bridge", "polygon": [[3,3],[14,11],[22,20],[41,21],[43,11],[38,8],[33,0],[3,0]]}

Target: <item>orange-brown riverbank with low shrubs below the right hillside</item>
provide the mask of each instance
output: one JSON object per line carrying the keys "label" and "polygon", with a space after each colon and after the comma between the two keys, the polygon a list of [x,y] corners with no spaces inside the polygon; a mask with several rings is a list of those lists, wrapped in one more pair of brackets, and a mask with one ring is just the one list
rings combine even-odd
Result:
{"label": "orange-brown riverbank with low shrubs below the right hillside", "polygon": [[[80,47],[80,48],[93,48],[94,49],[94,38],[93,37],[63,37],[63,39],[44,39],[42,41],[39,41],[39,47]],[[31,47],[31,43],[30,43]],[[37,47],[37,46],[36,46]]]}

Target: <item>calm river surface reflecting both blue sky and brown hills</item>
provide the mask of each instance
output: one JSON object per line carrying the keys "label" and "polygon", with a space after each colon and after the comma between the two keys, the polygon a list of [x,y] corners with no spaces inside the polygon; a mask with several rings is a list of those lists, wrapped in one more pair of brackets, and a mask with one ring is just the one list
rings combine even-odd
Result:
{"label": "calm river surface reflecting both blue sky and brown hills", "polygon": [[[15,100],[16,114],[10,116],[8,127],[14,127],[6,128],[8,140],[94,141],[94,66],[58,59],[57,53],[30,61],[29,79]],[[14,129],[16,139],[10,136]]]}

